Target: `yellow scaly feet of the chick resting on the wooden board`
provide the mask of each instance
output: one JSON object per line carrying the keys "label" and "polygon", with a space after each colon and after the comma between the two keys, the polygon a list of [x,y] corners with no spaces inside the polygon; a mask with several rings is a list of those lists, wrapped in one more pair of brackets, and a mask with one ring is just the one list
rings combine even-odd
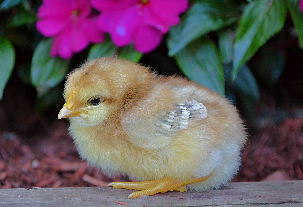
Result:
{"label": "yellow scaly feet of the chick resting on the wooden board", "polygon": [[142,196],[152,196],[156,193],[166,193],[167,191],[185,192],[185,185],[189,183],[202,182],[208,179],[212,174],[213,172],[206,177],[193,178],[190,180],[183,181],[170,178],[163,178],[160,180],[151,180],[143,182],[113,182],[109,183],[107,186],[112,186],[113,188],[139,190],[128,196],[128,198],[138,198]]}

